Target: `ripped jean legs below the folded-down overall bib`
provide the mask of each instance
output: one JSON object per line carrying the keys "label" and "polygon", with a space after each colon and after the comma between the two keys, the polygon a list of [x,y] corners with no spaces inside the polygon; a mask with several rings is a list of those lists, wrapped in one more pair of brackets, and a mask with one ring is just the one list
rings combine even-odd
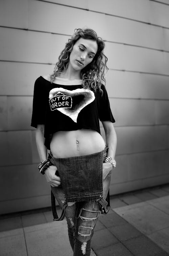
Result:
{"label": "ripped jean legs below the folded-down overall bib", "polygon": [[[104,154],[103,162],[106,157]],[[106,199],[111,182],[112,171],[108,173],[102,181],[103,198]],[[95,182],[95,180],[93,180]],[[51,190],[61,207],[65,203],[65,194],[62,186],[51,187]],[[74,256],[86,255],[91,252],[91,238],[94,234],[94,228],[98,217],[101,213],[101,206],[98,200],[68,202],[65,210],[65,217],[68,225],[69,241],[73,250]]]}

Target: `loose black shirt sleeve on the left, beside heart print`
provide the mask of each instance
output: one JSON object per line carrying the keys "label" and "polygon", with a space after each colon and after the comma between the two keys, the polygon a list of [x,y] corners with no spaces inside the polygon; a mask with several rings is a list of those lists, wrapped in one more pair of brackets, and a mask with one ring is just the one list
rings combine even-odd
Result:
{"label": "loose black shirt sleeve on the left, beside heart print", "polygon": [[38,124],[45,124],[45,116],[46,116],[45,90],[44,90],[44,84],[39,77],[34,83],[31,126],[37,128]]}

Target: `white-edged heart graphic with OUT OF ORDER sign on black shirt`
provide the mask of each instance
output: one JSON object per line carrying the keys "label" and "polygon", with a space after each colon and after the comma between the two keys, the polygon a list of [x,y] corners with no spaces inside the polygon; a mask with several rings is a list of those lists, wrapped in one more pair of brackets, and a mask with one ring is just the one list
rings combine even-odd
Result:
{"label": "white-edged heart graphic with OUT OF ORDER sign on black shirt", "polygon": [[49,104],[51,111],[60,111],[76,123],[80,111],[93,102],[94,99],[94,92],[83,88],[69,91],[59,87],[53,88],[49,92]]}

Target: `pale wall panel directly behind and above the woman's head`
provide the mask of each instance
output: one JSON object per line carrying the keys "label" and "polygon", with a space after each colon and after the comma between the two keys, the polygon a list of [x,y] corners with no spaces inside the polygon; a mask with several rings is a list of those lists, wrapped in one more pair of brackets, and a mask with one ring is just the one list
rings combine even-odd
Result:
{"label": "pale wall panel directly behind and above the woman's head", "polygon": [[[68,22],[61,22],[63,17]],[[92,27],[97,31],[99,36],[101,33],[104,38],[104,14],[42,1],[29,1],[29,29],[72,35],[75,28],[81,27]]]}

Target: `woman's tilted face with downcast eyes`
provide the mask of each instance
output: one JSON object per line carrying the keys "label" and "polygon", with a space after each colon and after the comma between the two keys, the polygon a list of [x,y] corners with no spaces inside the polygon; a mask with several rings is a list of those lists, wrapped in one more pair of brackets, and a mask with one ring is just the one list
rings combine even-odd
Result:
{"label": "woman's tilted face with downcast eyes", "polygon": [[72,52],[70,53],[69,65],[76,71],[82,70],[92,62],[97,53],[97,49],[96,41],[80,38],[74,44]]}

